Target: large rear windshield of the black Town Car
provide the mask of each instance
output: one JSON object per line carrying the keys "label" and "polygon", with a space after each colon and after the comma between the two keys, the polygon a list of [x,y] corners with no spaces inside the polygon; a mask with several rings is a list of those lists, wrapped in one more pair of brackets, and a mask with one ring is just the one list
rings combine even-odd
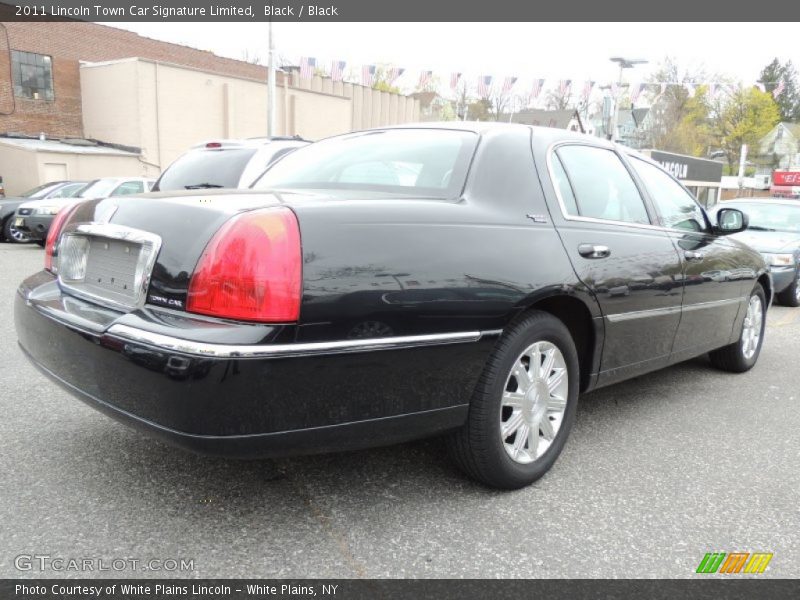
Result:
{"label": "large rear windshield of the black Town Car", "polygon": [[390,129],[330,138],[295,150],[253,187],[454,198],[464,186],[477,141],[472,132],[441,129]]}

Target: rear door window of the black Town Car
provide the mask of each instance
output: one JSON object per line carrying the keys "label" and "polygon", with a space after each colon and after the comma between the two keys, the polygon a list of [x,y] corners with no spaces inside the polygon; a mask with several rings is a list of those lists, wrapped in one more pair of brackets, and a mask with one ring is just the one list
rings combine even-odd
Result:
{"label": "rear door window of the black Town Car", "polygon": [[[567,145],[559,147],[556,155],[575,196],[573,206],[560,192],[569,214],[577,210],[574,216],[650,223],[639,189],[616,152],[594,146]],[[555,178],[558,180],[558,174]]]}

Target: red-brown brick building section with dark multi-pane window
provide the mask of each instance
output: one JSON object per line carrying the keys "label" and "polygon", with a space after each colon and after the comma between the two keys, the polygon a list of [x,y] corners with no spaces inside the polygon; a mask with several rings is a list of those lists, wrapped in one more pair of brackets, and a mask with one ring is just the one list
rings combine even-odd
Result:
{"label": "red-brown brick building section with dark multi-pane window", "polygon": [[[80,63],[132,56],[245,79],[267,77],[265,67],[97,23],[5,22],[0,24],[0,133],[82,137]],[[279,85],[281,76],[277,73]],[[21,78],[33,85],[20,86]]]}

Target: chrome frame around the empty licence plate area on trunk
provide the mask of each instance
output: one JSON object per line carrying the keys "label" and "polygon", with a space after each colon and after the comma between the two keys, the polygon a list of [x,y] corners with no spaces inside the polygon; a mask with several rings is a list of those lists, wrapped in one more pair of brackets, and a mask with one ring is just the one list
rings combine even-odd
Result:
{"label": "chrome frame around the empty licence plate area on trunk", "polygon": [[[117,302],[116,300],[112,300],[105,296],[87,292],[86,290],[82,290],[78,287],[75,287],[74,285],[65,282],[61,278],[61,274],[60,273],[58,274],[58,285],[61,287],[61,289],[66,292],[69,292],[74,296],[83,298],[84,300],[89,300],[91,302],[95,302],[102,306],[108,306],[110,308],[115,308],[124,311],[136,308],[142,308],[145,305],[145,303],[147,302],[147,290],[150,288],[150,279],[153,274],[153,267],[155,266],[158,253],[161,250],[161,236],[156,235],[155,233],[150,233],[149,231],[134,229],[132,227],[125,227],[124,225],[114,225],[111,223],[82,223],[77,227],[69,229],[64,233],[62,233],[61,237],[63,238],[69,235],[83,235],[83,236],[93,236],[100,238],[109,238],[113,240],[121,240],[126,242],[132,242],[135,244],[140,244],[143,248],[149,247],[150,254],[147,257],[147,261],[142,267],[144,270],[144,276],[142,277],[141,285],[137,290],[136,302],[133,304]],[[60,245],[61,245],[61,238],[59,238],[59,246]]]}

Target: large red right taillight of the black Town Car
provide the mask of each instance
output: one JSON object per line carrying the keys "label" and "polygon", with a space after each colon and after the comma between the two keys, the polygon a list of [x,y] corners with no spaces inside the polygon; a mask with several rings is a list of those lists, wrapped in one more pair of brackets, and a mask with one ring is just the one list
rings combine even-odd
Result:
{"label": "large red right taillight of the black Town Car", "polygon": [[302,250],[285,207],[237,215],[214,235],[189,282],[189,312],[265,323],[300,315]]}

